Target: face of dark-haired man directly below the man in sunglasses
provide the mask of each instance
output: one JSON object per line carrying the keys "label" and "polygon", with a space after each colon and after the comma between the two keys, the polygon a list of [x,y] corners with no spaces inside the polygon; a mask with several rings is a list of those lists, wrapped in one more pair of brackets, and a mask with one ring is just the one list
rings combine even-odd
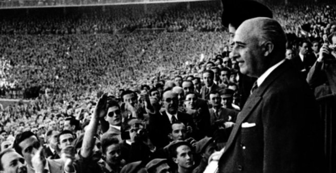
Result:
{"label": "face of dark-haired man directly below the man in sunglasses", "polygon": [[112,144],[106,148],[105,162],[108,165],[120,165],[121,162],[121,149],[119,144]]}

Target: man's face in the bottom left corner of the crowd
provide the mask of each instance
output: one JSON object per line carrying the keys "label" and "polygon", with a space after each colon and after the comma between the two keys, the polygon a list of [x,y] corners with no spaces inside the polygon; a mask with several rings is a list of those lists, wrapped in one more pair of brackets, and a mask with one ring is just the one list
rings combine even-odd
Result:
{"label": "man's face in the bottom left corner of the crowd", "polygon": [[24,158],[15,151],[6,153],[1,158],[4,173],[27,173],[27,166]]}

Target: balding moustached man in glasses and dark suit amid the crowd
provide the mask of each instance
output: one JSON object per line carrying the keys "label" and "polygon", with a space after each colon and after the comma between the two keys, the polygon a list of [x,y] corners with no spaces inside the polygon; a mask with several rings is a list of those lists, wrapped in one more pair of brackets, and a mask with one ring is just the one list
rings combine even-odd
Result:
{"label": "balding moustached man in glasses and dark suit amid the crowd", "polygon": [[169,144],[168,134],[172,131],[173,122],[182,122],[187,131],[192,132],[194,123],[189,114],[178,111],[178,96],[173,91],[166,91],[162,97],[165,111],[149,114],[149,136],[156,147],[165,147]]}

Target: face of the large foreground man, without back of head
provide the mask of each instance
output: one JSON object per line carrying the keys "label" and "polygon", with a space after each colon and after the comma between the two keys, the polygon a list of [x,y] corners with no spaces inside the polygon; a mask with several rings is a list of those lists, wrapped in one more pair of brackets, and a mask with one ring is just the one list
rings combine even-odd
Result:
{"label": "face of the large foreground man, without back of head", "polygon": [[238,27],[233,39],[232,53],[239,63],[240,72],[251,77],[259,77],[265,68],[261,40],[257,37],[259,30],[245,21]]}

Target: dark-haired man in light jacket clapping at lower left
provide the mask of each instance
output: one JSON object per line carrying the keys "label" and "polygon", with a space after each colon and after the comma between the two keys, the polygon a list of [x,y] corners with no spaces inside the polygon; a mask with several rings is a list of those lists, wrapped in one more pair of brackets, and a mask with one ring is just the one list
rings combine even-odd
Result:
{"label": "dark-haired man in light jacket clapping at lower left", "polygon": [[[13,148],[15,151],[23,156],[24,160],[27,163],[27,172],[35,173],[36,170],[33,167],[32,158],[38,153],[41,148],[38,137],[31,131],[25,131],[16,136]],[[41,149],[40,149],[41,150]],[[43,164],[43,171],[48,173],[63,173],[63,172],[72,172],[71,170],[65,170],[65,165],[61,160],[50,160],[46,159],[44,154],[41,154],[41,163]]]}

